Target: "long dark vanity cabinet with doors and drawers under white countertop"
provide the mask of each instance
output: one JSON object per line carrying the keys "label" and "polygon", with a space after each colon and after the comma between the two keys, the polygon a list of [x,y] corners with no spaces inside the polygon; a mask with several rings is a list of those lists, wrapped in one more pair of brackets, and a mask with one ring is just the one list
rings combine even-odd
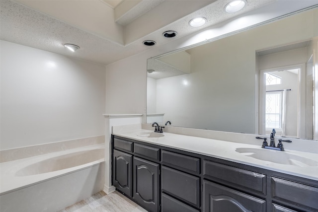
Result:
{"label": "long dark vanity cabinet with doors and drawers under white countertop", "polygon": [[318,181],[112,137],[113,185],[149,212],[318,212]]}

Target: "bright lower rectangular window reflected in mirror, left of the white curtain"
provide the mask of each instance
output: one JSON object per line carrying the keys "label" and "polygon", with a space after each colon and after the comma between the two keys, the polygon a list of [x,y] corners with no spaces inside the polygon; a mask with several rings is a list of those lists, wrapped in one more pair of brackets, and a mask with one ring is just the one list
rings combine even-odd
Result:
{"label": "bright lower rectangular window reflected in mirror, left of the white curtain", "polygon": [[282,91],[266,92],[265,128],[282,128]]}

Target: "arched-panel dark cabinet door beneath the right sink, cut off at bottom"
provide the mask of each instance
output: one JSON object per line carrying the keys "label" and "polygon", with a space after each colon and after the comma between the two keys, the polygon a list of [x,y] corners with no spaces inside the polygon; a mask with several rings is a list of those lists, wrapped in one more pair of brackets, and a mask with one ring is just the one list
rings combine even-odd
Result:
{"label": "arched-panel dark cabinet door beneath the right sink, cut off at bottom", "polygon": [[265,212],[266,202],[203,180],[204,212]]}

